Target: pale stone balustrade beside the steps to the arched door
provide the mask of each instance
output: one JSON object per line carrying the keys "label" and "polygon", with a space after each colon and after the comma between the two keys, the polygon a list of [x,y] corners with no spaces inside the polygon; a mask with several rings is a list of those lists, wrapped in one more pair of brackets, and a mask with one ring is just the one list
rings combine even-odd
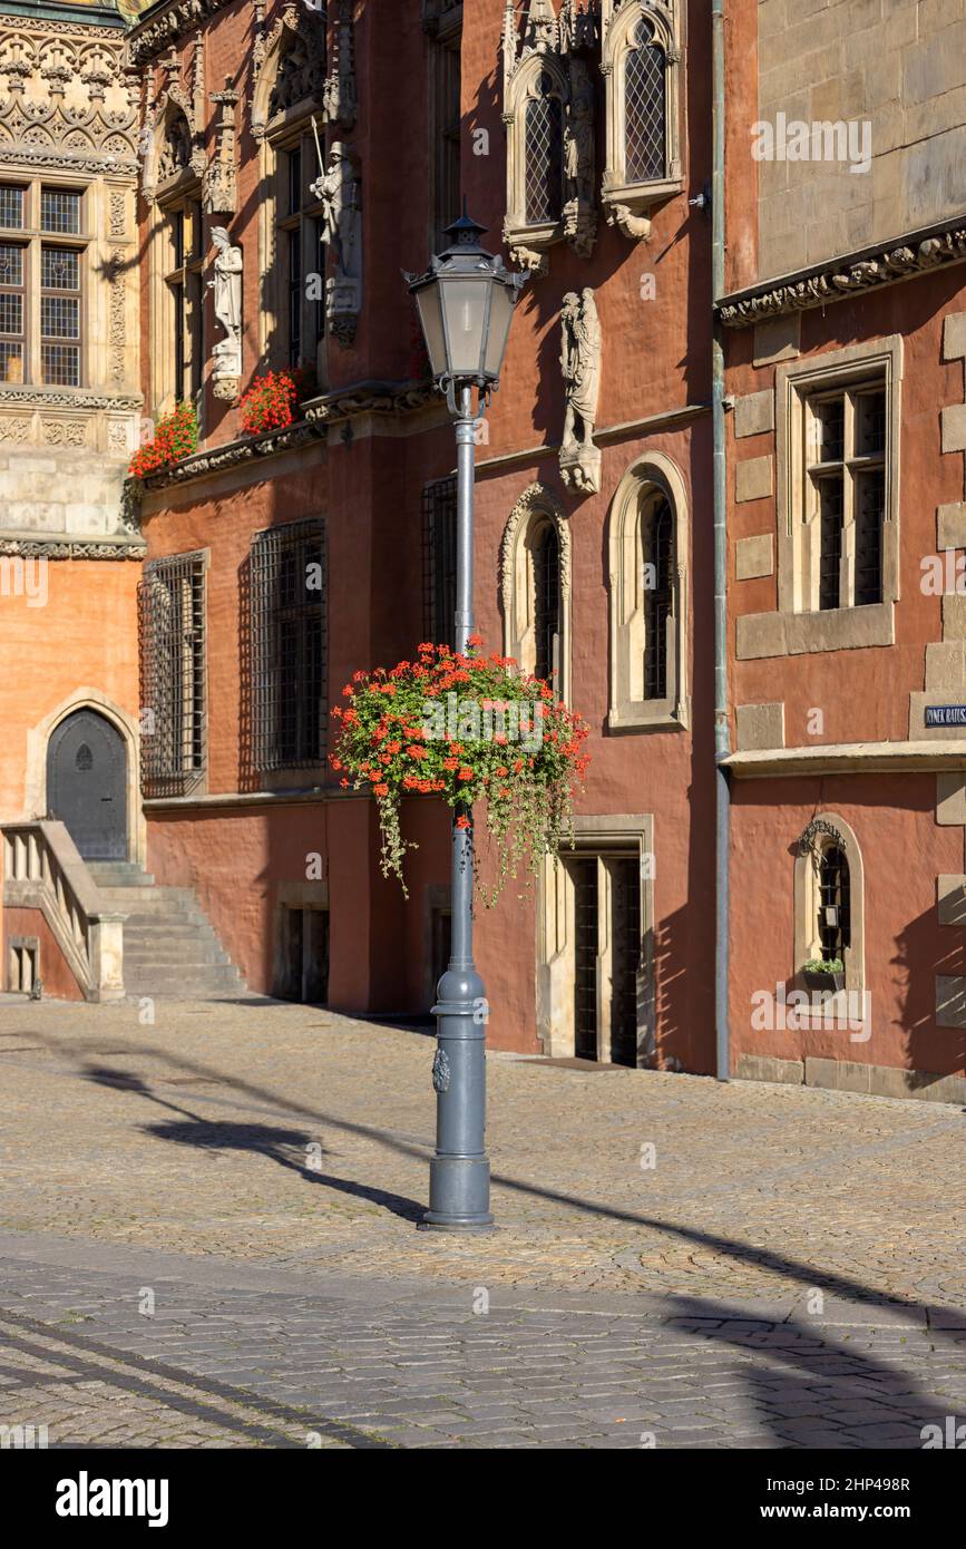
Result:
{"label": "pale stone balustrade beside the steps to the arched door", "polygon": [[85,1001],[124,998],[124,920],[62,823],[5,823],[3,906],[39,909]]}

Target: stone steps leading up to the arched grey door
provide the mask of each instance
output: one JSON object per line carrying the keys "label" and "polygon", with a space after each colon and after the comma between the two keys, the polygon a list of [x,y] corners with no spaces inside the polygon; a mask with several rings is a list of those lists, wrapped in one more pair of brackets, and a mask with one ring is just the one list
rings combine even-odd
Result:
{"label": "stone steps leading up to the arched grey door", "polygon": [[246,993],[190,888],[158,888],[135,861],[88,861],[87,869],[102,898],[127,914],[127,994],[207,1001]]}

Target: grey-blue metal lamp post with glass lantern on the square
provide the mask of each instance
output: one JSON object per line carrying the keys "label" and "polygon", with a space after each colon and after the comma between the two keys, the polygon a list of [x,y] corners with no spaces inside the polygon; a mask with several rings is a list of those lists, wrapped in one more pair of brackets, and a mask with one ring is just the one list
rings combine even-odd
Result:
{"label": "grey-blue metal lamp post with glass lantern on the square", "polygon": [[[475,426],[500,376],[512,308],[525,274],[480,246],[483,226],[466,214],[446,228],[450,245],[418,277],[416,297],[429,362],[446,392],[457,428],[457,613],[455,647],[464,652],[474,630],[474,445]],[[474,414],[472,390],[477,389]],[[458,819],[466,819],[460,824]],[[489,1160],[486,1134],[486,996],[472,954],[472,815],[454,809],[452,950],[437,985],[437,1154],[429,1163],[429,1210],[420,1227],[435,1231],[486,1231]]]}

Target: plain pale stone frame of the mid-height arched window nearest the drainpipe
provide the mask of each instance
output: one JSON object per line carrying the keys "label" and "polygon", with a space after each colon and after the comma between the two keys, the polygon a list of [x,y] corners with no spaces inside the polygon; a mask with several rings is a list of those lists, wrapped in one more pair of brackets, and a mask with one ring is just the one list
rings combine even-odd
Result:
{"label": "plain pale stone frame of the mid-height arched window nearest the drainpipe", "polygon": [[[652,491],[670,503],[673,531],[672,618],[667,627],[667,696],[644,694],[644,553],[641,517]],[[687,728],[687,489],[664,452],[642,452],[625,471],[608,514],[610,731]]]}

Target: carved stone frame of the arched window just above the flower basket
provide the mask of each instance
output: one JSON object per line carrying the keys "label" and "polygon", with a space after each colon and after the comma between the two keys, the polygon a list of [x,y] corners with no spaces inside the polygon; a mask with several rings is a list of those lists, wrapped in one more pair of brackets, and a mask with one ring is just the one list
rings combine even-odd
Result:
{"label": "carved stone frame of the arched window just above the flower basket", "polygon": [[525,672],[536,665],[533,539],[553,527],[560,558],[560,618],[556,691],[570,705],[571,696],[571,534],[557,496],[546,485],[533,483],[516,502],[500,547],[500,593],[503,603],[503,654]]}

